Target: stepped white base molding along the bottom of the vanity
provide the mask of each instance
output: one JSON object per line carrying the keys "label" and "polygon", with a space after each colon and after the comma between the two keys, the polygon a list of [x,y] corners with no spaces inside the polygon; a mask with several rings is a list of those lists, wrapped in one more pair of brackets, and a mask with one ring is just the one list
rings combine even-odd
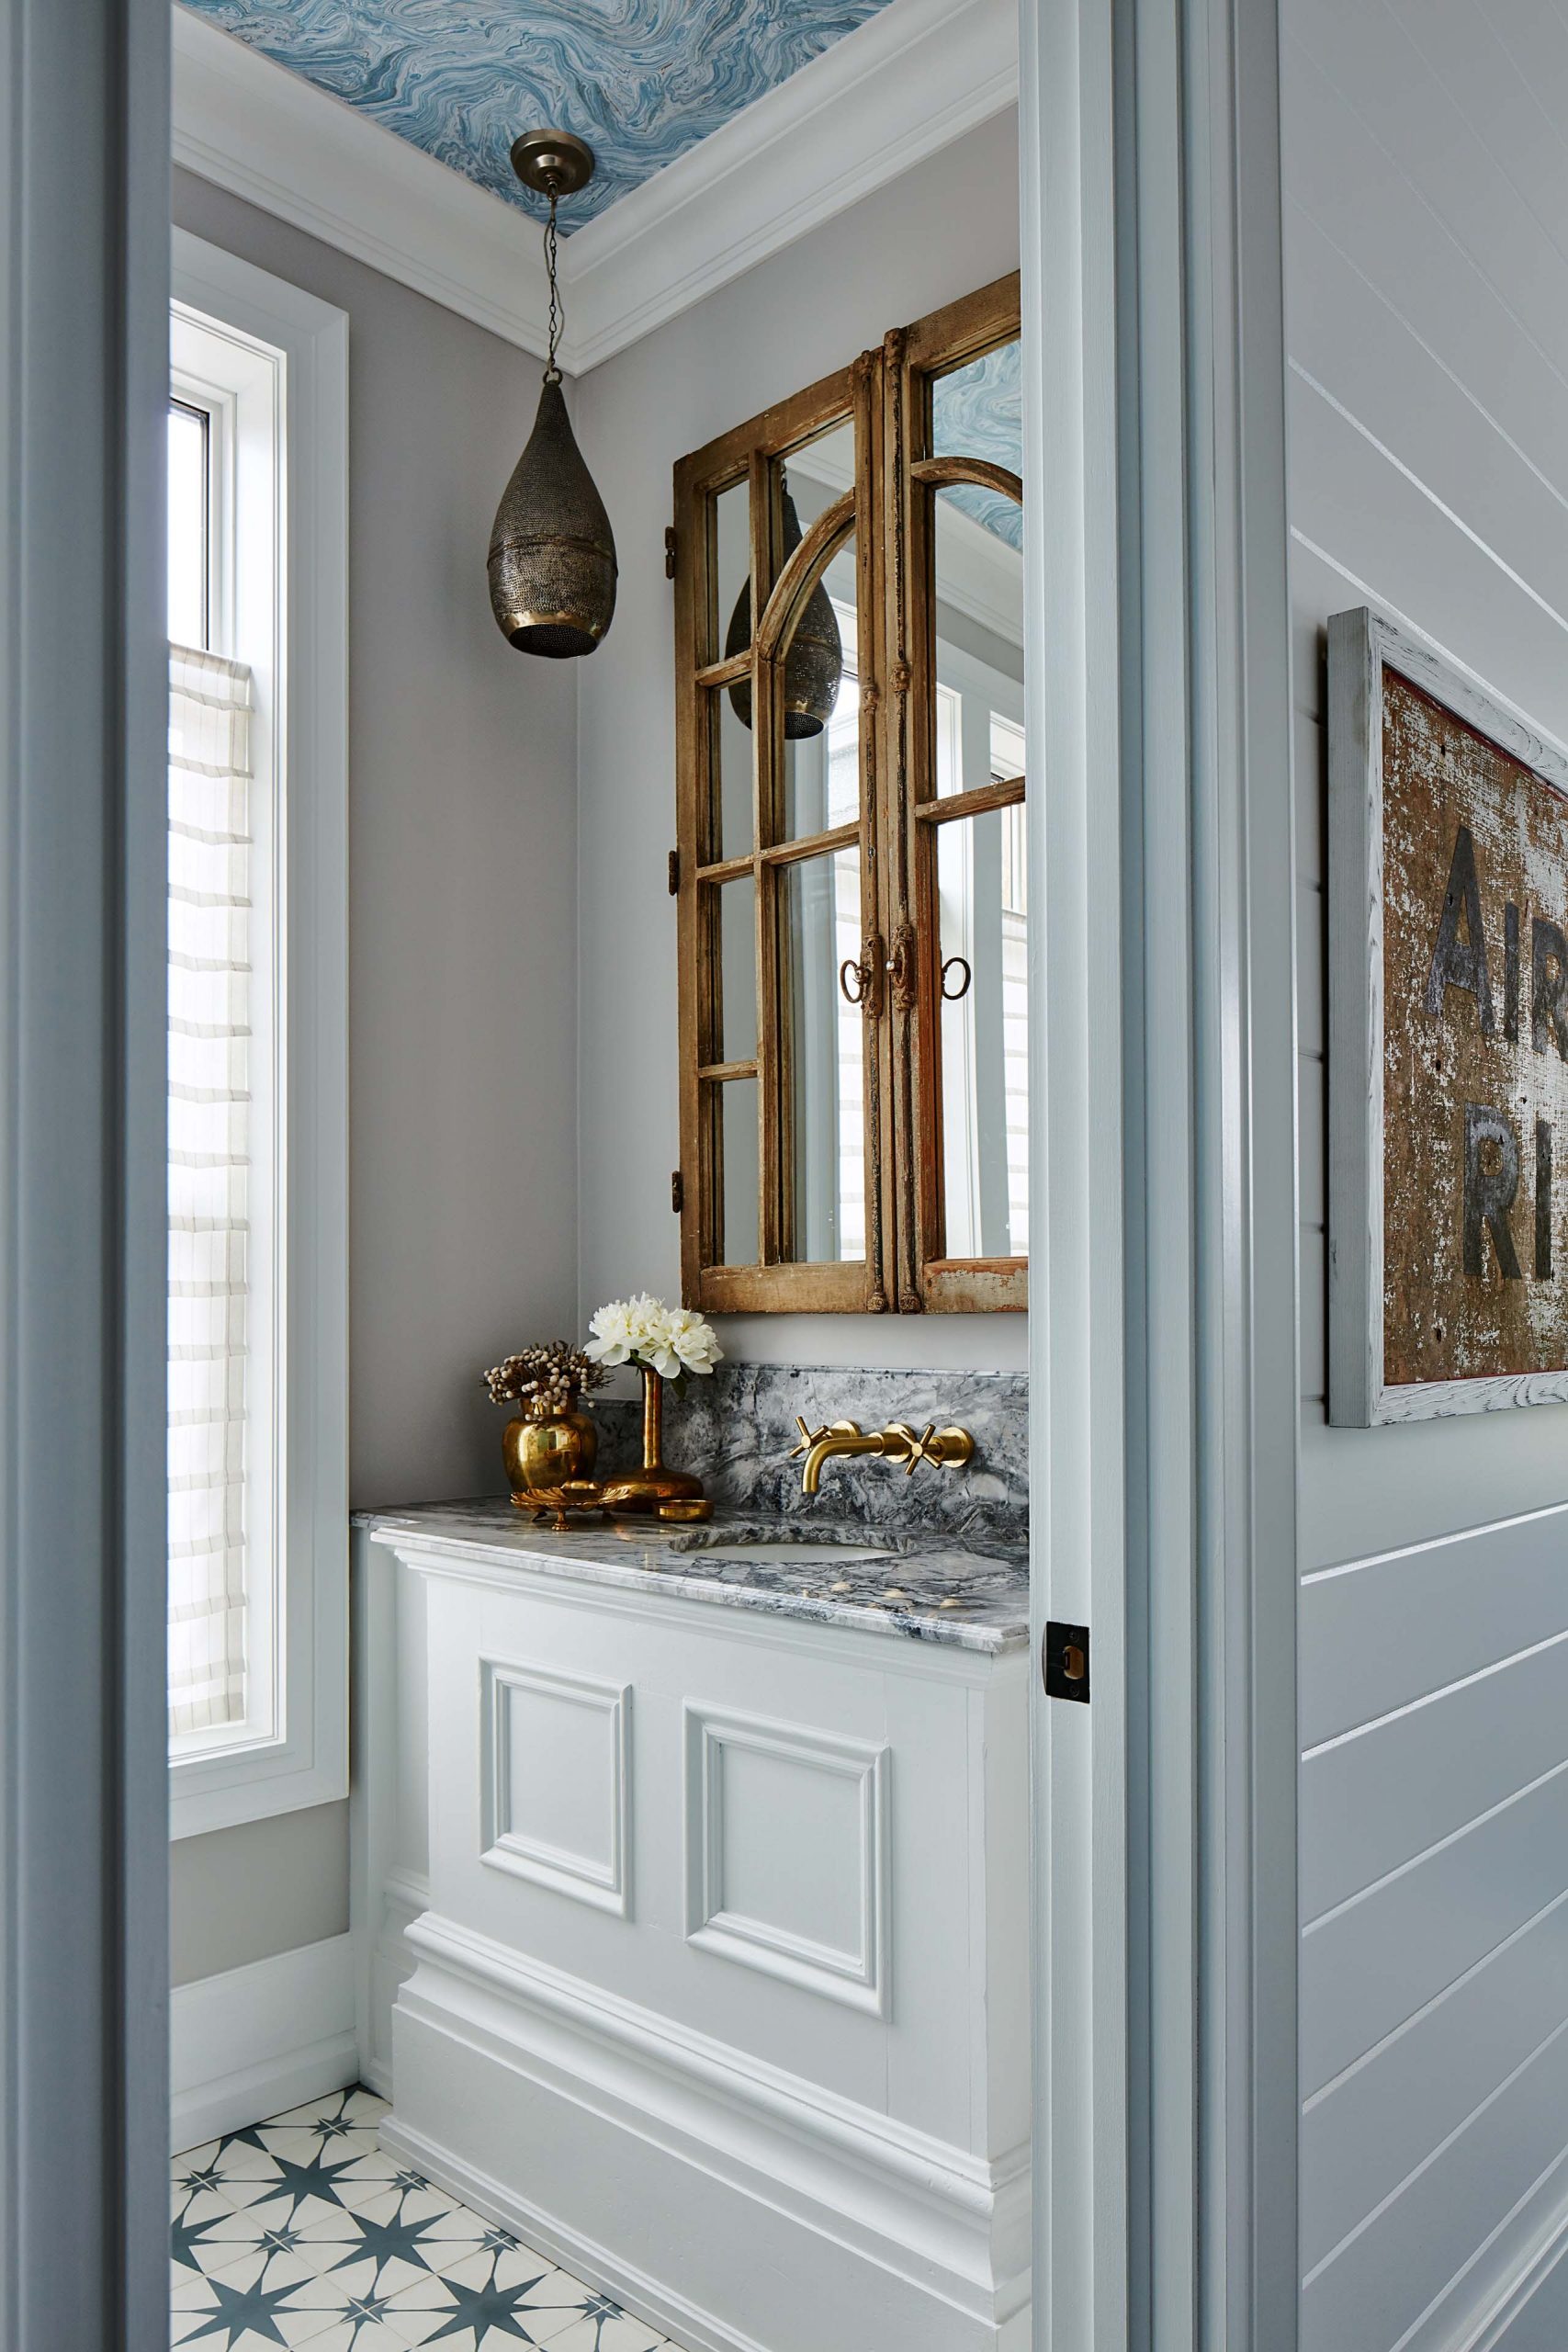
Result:
{"label": "stepped white base molding along the bottom of the vanity", "polygon": [[404,1940],[383,2143],[649,2326],[1027,2352],[1027,2147],[987,2164],[435,1912]]}

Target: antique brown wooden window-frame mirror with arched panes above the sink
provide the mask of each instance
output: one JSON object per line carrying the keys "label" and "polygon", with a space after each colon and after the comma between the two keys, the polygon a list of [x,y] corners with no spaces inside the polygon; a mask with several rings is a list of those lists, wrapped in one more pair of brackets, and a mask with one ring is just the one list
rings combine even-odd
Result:
{"label": "antique brown wooden window-frame mirror with arched panes above the sink", "polygon": [[1027,1305],[1018,452],[1013,275],[675,468],[689,1305]]}

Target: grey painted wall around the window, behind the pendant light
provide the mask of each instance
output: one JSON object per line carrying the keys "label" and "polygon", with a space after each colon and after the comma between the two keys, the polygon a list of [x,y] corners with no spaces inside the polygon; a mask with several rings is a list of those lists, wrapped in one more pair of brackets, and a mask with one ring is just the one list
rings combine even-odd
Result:
{"label": "grey painted wall around the window, behind the pendant light", "polygon": [[[350,318],[350,1484],[475,1494],[480,1367],[576,1312],[576,682],[484,588],[538,369],[183,172],[174,219]],[[181,1839],[174,1983],[341,1933],[346,1813]]]}

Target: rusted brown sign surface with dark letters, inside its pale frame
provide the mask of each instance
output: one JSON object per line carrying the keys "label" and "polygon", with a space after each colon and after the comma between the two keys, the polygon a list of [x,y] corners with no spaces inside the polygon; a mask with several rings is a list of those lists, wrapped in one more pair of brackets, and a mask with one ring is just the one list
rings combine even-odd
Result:
{"label": "rusted brown sign surface with dark letters, inside its pale frame", "polygon": [[1568,800],[1382,677],[1385,1381],[1563,1371]]}

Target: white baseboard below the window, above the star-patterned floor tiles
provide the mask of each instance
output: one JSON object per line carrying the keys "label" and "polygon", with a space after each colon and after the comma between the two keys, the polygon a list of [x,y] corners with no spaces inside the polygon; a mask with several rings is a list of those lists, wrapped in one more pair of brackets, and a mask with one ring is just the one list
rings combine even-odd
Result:
{"label": "white baseboard below the window, above the star-patterned floor tiles", "polygon": [[200,2147],[360,2079],[353,1936],[169,1997],[169,2145]]}

